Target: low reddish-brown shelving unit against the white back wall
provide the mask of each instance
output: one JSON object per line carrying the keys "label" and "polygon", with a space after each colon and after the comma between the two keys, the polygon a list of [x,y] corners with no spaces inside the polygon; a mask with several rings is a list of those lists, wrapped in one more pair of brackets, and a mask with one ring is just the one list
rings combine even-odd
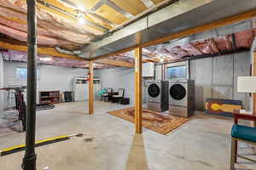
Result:
{"label": "low reddish-brown shelving unit against the white back wall", "polygon": [[60,91],[42,91],[39,92],[40,104],[60,103]]}

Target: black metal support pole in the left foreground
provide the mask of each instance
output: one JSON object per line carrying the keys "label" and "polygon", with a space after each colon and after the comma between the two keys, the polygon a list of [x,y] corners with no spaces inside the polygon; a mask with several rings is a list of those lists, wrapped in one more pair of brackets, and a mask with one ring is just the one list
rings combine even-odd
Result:
{"label": "black metal support pole in the left foreground", "polygon": [[27,3],[27,95],[26,95],[26,150],[22,168],[36,170],[35,153],[37,99],[37,14],[36,0]]}

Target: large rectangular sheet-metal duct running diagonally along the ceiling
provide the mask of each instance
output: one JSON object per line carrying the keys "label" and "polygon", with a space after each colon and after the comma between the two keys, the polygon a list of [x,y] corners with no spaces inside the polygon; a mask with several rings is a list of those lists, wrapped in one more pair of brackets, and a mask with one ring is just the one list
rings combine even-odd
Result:
{"label": "large rectangular sheet-metal duct running diagonally along the ceiling", "polygon": [[242,14],[255,8],[256,1],[252,0],[180,0],[113,32],[109,37],[90,44],[85,48],[95,51],[83,52],[79,56],[89,59],[102,54],[112,54],[120,49],[151,42],[160,37]]}

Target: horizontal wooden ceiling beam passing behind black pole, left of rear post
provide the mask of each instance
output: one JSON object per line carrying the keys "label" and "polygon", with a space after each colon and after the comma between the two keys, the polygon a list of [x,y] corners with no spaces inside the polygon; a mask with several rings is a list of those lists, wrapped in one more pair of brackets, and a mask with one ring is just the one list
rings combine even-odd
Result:
{"label": "horizontal wooden ceiling beam passing behind black pole, left of rear post", "polygon": [[[26,45],[23,44],[15,44],[11,42],[3,42],[0,41],[0,48],[6,48],[6,49],[11,49],[11,50],[16,50],[16,51],[23,51],[27,52],[27,47]],[[38,47],[38,54],[44,54],[44,55],[50,55],[53,57],[60,57],[60,58],[65,58],[65,59],[79,59],[79,60],[87,60],[87,59],[82,59],[73,55],[68,55],[68,54],[61,54],[58,53],[55,48],[43,48],[43,47]]]}

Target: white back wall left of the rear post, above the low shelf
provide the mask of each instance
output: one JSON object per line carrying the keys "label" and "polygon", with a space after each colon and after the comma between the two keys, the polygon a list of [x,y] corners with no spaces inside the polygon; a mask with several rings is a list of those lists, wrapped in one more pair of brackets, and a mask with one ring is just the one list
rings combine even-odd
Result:
{"label": "white back wall left of the rear post, above the low shelf", "polygon": [[[26,68],[26,63],[9,61],[3,62],[4,87],[26,85],[26,80],[20,80],[16,77],[17,67]],[[40,77],[37,83],[38,93],[39,91],[50,90],[70,91],[72,90],[73,77],[87,76],[88,72],[87,69],[67,68],[54,65],[38,65],[38,69],[40,72]],[[37,99],[39,101],[39,96]]]}

